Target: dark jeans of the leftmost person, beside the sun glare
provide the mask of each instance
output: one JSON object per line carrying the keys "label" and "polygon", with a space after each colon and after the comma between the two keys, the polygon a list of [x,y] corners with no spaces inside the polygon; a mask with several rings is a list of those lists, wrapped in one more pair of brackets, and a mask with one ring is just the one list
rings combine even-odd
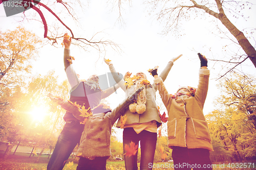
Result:
{"label": "dark jeans of the leftmost person, beside the sun glare", "polygon": [[48,170],[61,170],[65,166],[70,154],[79,143],[84,125],[78,120],[69,120],[61,131],[51,159],[48,162]]}

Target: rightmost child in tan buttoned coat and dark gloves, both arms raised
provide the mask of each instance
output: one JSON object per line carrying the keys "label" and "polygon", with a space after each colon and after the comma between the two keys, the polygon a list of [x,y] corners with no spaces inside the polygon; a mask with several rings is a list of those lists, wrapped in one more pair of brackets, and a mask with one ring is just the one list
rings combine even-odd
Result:
{"label": "rightmost child in tan buttoned coat and dark gloves, both arms raised", "polygon": [[173,149],[175,169],[212,169],[209,152],[213,151],[203,106],[207,95],[210,71],[207,59],[201,61],[198,88],[180,87],[169,94],[157,69],[151,70],[154,83],[168,111],[168,147]]}

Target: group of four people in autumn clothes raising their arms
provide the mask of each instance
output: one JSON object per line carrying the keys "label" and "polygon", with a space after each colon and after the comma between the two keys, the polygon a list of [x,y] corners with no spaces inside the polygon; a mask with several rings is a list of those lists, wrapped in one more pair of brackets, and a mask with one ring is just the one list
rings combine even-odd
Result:
{"label": "group of four people in autumn clothes raising their arms", "polygon": [[[173,150],[172,157],[175,169],[212,169],[209,152],[213,151],[207,122],[203,114],[203,106],[208,90],[209,70],[207,59],[198,54],[201,61],[199,70],[199,85],[196,88],[180,87],[175,95],[169,94],[164,81],[174,62],[182,55],[171,59],[158,76],[157,68],[149,72],[154,77],[154,83],[146,81],[144,72],[138,72],[132,84],[127,85],[130,72],[124,77],[116,74],[116,70],[108,60],[115,87],[101,90],[97,75],[92,75],[86,81],[77,77],[70,62],[71,37],[64,36],[64,66],[71,85],[70,101],[91,110],[92,115],[84,118],[79,115],[79,109],[70,102],[59,102],[67,110],[63,117],[66,124],[61,131],[55,149],[48,163],[48,170],[58,170],[65,166],[76,144],[79,144],[76,155],[80,157],[77,169],[106,169],[106,160],[111,156],[111,129],[116,120],[117,127],[123,128],[123,148],[140,141],[140,169],[152,169],[156,143],[157,128],[162,121],[156,104],[156,91],[159,90],[162,102],[168,111],[168,147]],[[115,109],[99,107],[100,101],[117,88],[125,92],[125,99]],[[134,107],[135,106],[135,107]],[[127,117],[122,122],[120,116]],[[123,150],[124,155],[126,153]],[[125,169],[138,169],[138,152],[132,156],[124,156]]]}

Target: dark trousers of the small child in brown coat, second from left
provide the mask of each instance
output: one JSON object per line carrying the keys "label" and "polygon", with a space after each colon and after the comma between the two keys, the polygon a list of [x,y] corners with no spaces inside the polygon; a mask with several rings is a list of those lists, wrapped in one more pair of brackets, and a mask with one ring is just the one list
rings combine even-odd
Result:
{"label": "dark trousers of the small child in brown coat, second from left", "polygon": [[105,170],[109,157],[96,157],[93,160],[80,157],[76,170]]}

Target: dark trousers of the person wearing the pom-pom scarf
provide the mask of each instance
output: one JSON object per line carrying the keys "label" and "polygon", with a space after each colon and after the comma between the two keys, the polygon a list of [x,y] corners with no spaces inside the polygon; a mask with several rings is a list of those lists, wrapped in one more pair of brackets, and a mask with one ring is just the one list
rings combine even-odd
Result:
{"label": "dark trousers of the person wearing the pom-pom scarf", "polygon": [[[140,141],[140,149],[141,149],[141,160],[140,160],[140,169],[152,169],[149,166],[149,163],[153,164],[154,155],[156,150],[156,143],[157,143],[157,133],[152,133],[143,130],[139,134],[137,134],[133,128],[124,128],[123,130],[123,153],[126,151],[124,150],[125,144],[130,146],[130,142],[135,142],[135,145]],[[137,157],[138,152],[136,155],[131,157],[124,155],[124,162],[125,162],[125,169],[126,170],[134,170],[138,169],[137,166]]]}

